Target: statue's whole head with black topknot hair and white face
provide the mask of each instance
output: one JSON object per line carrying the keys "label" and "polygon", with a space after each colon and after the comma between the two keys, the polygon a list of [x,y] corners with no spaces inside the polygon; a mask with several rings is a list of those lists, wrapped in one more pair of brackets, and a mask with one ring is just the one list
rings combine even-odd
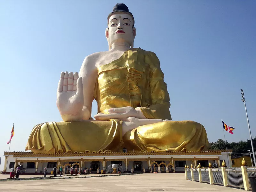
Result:
{"label": "statue's whole head with black topknot hair and white face", "polygon": [[125,4],[116,4],[113,12],[108,15],[108,28],[105,34],[108,40],[108,50],[112,49],[112,44],[123,43],[133,48],[136,36],[134,17]]}

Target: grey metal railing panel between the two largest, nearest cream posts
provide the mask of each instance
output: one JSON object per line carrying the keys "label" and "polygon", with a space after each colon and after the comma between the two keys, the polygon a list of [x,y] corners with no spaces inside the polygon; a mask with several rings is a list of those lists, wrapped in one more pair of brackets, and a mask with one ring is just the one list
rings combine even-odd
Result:
{"label": "grey metal railing panel between the two largest, nearest cream posts", "polygon": [[228,186],[244,188],[241,168],[226,168]]}

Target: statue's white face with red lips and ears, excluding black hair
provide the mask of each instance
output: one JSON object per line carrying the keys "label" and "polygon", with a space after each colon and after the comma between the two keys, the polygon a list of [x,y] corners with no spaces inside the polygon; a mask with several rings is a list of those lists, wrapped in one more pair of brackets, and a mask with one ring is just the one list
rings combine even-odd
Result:
{"label": "statue's white face with red lips and ears, excluding black hair", "polygon": [[111,49],[112,44],[126,43],[133,47],[136,29],[133,26],[133,20],[130,14],[115,13],[108,20],[106,37]]}

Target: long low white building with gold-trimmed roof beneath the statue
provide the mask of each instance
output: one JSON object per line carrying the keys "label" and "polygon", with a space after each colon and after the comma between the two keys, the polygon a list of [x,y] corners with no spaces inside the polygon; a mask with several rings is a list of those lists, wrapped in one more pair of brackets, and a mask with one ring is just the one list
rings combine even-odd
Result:
{"label": "long low white building with gold-trimmed roof beneath the statue", "polygon": [[[211,162],[220,166],[223,162],[231,161],[232,151],[200,151],[200,152],[135,152],[124,149],[122,152],[90,152],[86,153],[61,153],[61,154],[34,154],[33,152],[4,152],[7,172],[11,171],[11,167],[18,164],[22,166],[23,173],[43,174],[44,167],[52,170],[55,166],[64,167],[65,173],[69,173],[71,166],[79,167],[79,172],[83,172],[86,168],[92,168],[92,172],[103,170],[108,171],[108,167],[112,164],[118,164],[124,173],[129,173],[133,169],[134,172],[154,172],[154,165],[157,172],[184,172],[185,165],[197,166],[199,163],[205,167]],[[7,162],[8,157],[8,162]],[[227,163],[227,165],[228,165]]]}

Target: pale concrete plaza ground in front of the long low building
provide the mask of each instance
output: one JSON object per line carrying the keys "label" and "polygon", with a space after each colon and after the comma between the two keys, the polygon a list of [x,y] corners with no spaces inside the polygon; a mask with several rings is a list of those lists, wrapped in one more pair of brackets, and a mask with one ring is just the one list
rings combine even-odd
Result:
{"label": "pale concrete plaza ground in front of the long low building", "polygon": [[[21,178],[28,178],[29,176],[33,177],[34,175],[21,175]],[[38,177],[38,175],[35,176]],[[61,179],[0,181],[0,191],[242,191],[235,188],[185,180],[184,173],[146,173],[136,175],[115,175],[111,177],[92,177],[98,176],[98,174],[91,174],[85,176],[85,178],[79,178],[79,176],[68,178],[67,176],[64,176]],[[4,179],[2,175],[0,179]]]}

